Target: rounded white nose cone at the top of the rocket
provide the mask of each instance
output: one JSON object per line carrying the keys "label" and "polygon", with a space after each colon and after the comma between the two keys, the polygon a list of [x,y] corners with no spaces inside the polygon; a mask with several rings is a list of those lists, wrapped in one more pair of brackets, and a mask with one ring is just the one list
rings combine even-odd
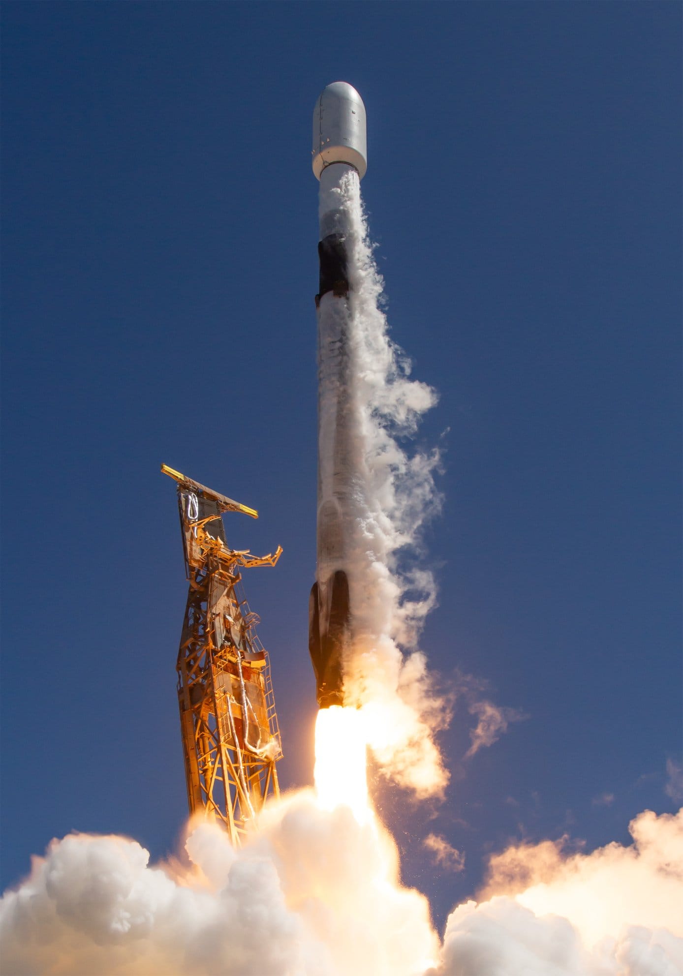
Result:
{"label": "rounded white nose cone at the top of the rocket", "polygon": [[313,173],[318,180],[326,166],[347,163],[362,180],[368,168],[365,105],[345,81],[333,81],[313,111]]}

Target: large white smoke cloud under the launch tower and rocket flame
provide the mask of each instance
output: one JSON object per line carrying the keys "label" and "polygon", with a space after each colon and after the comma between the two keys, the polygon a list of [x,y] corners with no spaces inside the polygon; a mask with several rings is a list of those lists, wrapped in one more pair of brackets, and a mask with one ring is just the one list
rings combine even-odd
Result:
{"label": "large white smoke cloud under the launch tower and rocket flame", "polygon": [[312,793],[273,804],[241,849],[195,827],[181,871],[134,840],[73,834],[0,906],[6,976],[420,976],[438,954],[393,841]]}

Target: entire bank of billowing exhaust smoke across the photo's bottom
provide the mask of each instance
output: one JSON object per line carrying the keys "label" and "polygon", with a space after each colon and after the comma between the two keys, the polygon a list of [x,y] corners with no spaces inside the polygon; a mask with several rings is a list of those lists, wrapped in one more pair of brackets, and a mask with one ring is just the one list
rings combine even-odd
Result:
{"label": "entire bank of billowing exhaust smoke across the photo's bottom", "polygon": [[[0,902],[7,976],[681,976],[683,810],[640,814],[633,843],[567,838],[491,859],[440,945],[375,821],[309,791],[266,808],[234,849],[200,824],[189,863],[150,866],[125,837],[72,834]],[[443,841],[443,844],[441,843]],[[436,837],[440,859],[454,849]]]}

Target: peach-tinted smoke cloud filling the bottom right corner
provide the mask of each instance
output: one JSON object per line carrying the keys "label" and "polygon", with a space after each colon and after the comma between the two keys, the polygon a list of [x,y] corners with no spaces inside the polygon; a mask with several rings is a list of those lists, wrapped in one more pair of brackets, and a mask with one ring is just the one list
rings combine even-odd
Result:
{"label": "peach-tinted smoke cloud filling the bottom right corner", "polygon": [[479,904],[448,919],[438,976],[681,976],[683,810],[646,810],[633,843],[566,854],[567,839],[491,859]]}

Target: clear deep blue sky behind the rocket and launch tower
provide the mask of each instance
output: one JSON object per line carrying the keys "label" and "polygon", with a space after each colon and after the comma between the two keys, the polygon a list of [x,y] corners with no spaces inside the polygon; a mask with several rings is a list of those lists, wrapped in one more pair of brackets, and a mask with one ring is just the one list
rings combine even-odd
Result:
{"label": "clear deep blue sky behind the rocket and launch tower", "polygon": [[[310,782],[317,183],[343,78],[392,335],[441,394],[422,646],[524,722],[447,802],[382,805],[441,917],[487,851],[627,840],[681,759],[674,3],[5,4],[3,886],[70,830],[185,817],[163,461],[259,508],[235,548],[284,785]],[[603,794],[613,795],[604,803]],[[465,872],[428,864],[431,831]]]}

